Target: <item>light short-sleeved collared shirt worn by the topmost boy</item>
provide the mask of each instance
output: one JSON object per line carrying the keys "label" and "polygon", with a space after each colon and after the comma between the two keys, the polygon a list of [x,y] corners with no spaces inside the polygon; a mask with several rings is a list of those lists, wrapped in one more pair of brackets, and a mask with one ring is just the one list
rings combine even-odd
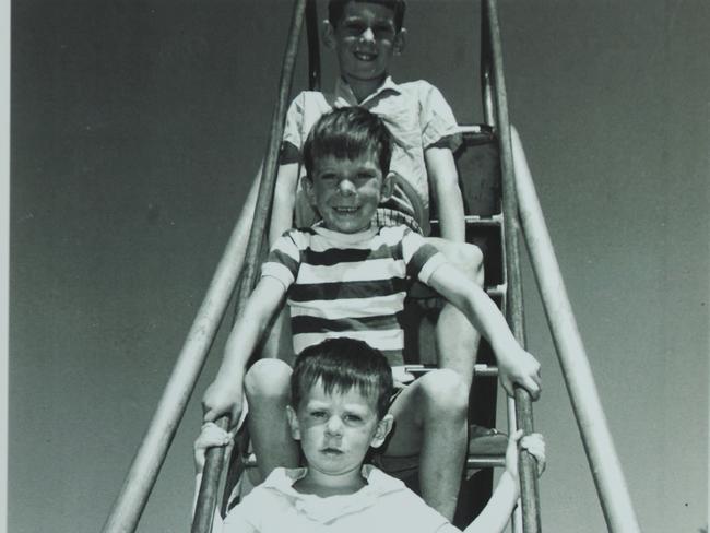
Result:
{"label": "light short-sleeved collared shirt worn by the topmost boy", "polygon": [[[375,93],[358,103],[347,83],[339,79],[333,93],[304,91],[294,98],[286,114],[283,142],[295,146],[300,154],[318,119],[333,108],[347,106],[364,107],[384,121],[394,139],[390,169],[405,181],[395,182],[387,206],[415,217],[426,229],[429,185],[424,151],[440,142],[446,142],[452,151],[458,147],[459,127],[451,107],[439,90],[424,80],[397,84],[387,78]],[[311,221],[297,222],[297,225],[309,225]]]}

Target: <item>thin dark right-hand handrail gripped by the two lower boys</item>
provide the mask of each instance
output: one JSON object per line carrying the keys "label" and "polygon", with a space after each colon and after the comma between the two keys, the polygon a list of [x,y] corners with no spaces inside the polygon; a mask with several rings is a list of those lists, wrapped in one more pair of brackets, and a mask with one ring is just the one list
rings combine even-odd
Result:
{"label": "thin dark right-hand handrail gripped by the two lower boys", "polygon": [[[510,122],[508,100],[502,68],[502,46],[500,24],[495,0],[482,3],[482,81],[484,85],[484,112],[495,120],[500,144],[500,173],[502,178],[502,212],[506,274],[508,279],[508,300],[506,315],[516,339],[525,345],[523,321],[522,280],[520,273],[520,251],[518,248],[518,204],[516,199],[514,169],[510,145]],[[493,105],[493,109],[490,106]],[[532,401],[530,393],[517,387],[516,422],[525,434],[533,431]],[[529,453],[520,454],[520,494],[522,501],[522,526],[525,533],[540,531],[540,498],[537,497],[537,475],[534,459]]]}

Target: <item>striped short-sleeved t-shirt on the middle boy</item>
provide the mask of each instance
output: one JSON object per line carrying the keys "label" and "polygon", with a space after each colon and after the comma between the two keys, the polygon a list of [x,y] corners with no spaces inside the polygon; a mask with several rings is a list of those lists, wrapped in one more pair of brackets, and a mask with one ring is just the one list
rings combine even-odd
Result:
{"label": "striped short-sleeved t-shirt on the middle boy", "polygon": [[405,226],[357,234],[320,225],[289,229],[274,242],[261,275],[283,283],[294,351],[347,336],[402,364],[401,313],[410,282],[428,283],[445,257]]}

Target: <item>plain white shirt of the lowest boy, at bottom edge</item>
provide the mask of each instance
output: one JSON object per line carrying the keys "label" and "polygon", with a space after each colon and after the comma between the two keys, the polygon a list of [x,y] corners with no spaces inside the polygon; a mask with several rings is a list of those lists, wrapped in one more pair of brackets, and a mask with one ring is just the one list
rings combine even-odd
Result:
{"label": "plain white shirt of the lowest boy, at bottom edge", "polygon": [[[321,498],[293,485],[306,469],[275,469],[215,533],[454,533],[460,530],[399,479],[363,466],[367,485],[351,495]],[[217,521],[215,521],[217,522]],[[220,530],[220,525],[222,529]]]}

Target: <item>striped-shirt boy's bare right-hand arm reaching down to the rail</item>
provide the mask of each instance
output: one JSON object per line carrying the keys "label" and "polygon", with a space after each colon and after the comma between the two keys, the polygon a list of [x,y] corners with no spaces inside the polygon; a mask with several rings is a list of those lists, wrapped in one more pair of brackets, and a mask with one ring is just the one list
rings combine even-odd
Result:
{"label": "striped-shirt boy's bare right-hand arm reaching down to the rail", "polygon": [[429,285],[457,306],[490,343],[498,360],[500,384],[506,392],[512,395],[514,382],[537,399],[540,363],[518,344],[502,313],[483,288],[450,263],[434,271]]}

